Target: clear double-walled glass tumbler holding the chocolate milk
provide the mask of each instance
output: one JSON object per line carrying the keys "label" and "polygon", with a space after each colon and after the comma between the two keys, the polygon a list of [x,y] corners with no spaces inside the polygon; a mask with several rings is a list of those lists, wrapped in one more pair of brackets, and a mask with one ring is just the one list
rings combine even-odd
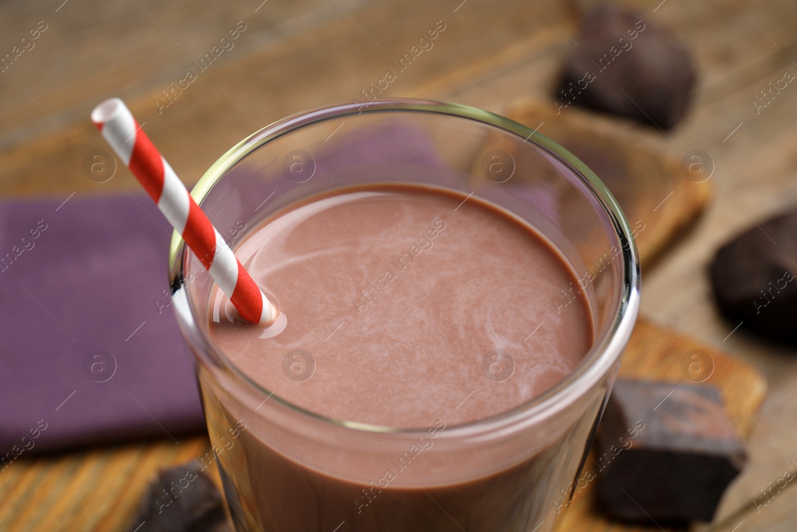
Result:
{"label": "clear double-walled glass tumbler holding the chocolate milk", "polygon": [[[213,282],[175,235],[175,312],[213,444],[202,462],[218,463],[241,532],[552,530],[637,316],[630,227],[595,174],[552,140],[489,112],[426,100],[289,116],[230,149],[192,195],[235,245],[246,227],[297,200],[379,182],[477,195],[536,227],[578,274],[578,286],[563,287],[552,305],[566,305],[573,290],[587,295],[590,352],[548,392],[473,423],[404,430],[328,419],[262,388],[214,346]],[[413,467],[386,480],[404,457],[415,457]]]}

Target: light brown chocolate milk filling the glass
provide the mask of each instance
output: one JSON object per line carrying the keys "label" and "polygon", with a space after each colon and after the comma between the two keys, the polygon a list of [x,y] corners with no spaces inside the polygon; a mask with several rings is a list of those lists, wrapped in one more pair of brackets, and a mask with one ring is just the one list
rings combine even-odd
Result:
{"label": "light brown chocolate milk filling the glass", "polygon": [[[346,461],[348,473],[330,473],[312,445],[285,447],[289,456],[242,431],[218,453],[241,530],[496,532],[532,530],[550,514],[552,500],[541,500],[552,499],[550,488],[537,486],[567,469],[559,463],[578,461],[583,445],[574,444],[586,439],[597,404],[520,463],[455,483],[434,476],[452,465],[440,452],[446,428],[532,401],[591,348],[587,301],[555,302],[575,274],[532,227],[474,196],[374,185],[293,205],[249,231],[236,254],[276,296],[281,319],[269,329],[241,324],[217,291],[210,337],[220,353],[312,415],[422,433],[383,463],[333,453],[329,462]],[[236,418],[257,417],[206,391],[204,402],[217,444]],[[489,455],[476,463],[485,470]]]}

